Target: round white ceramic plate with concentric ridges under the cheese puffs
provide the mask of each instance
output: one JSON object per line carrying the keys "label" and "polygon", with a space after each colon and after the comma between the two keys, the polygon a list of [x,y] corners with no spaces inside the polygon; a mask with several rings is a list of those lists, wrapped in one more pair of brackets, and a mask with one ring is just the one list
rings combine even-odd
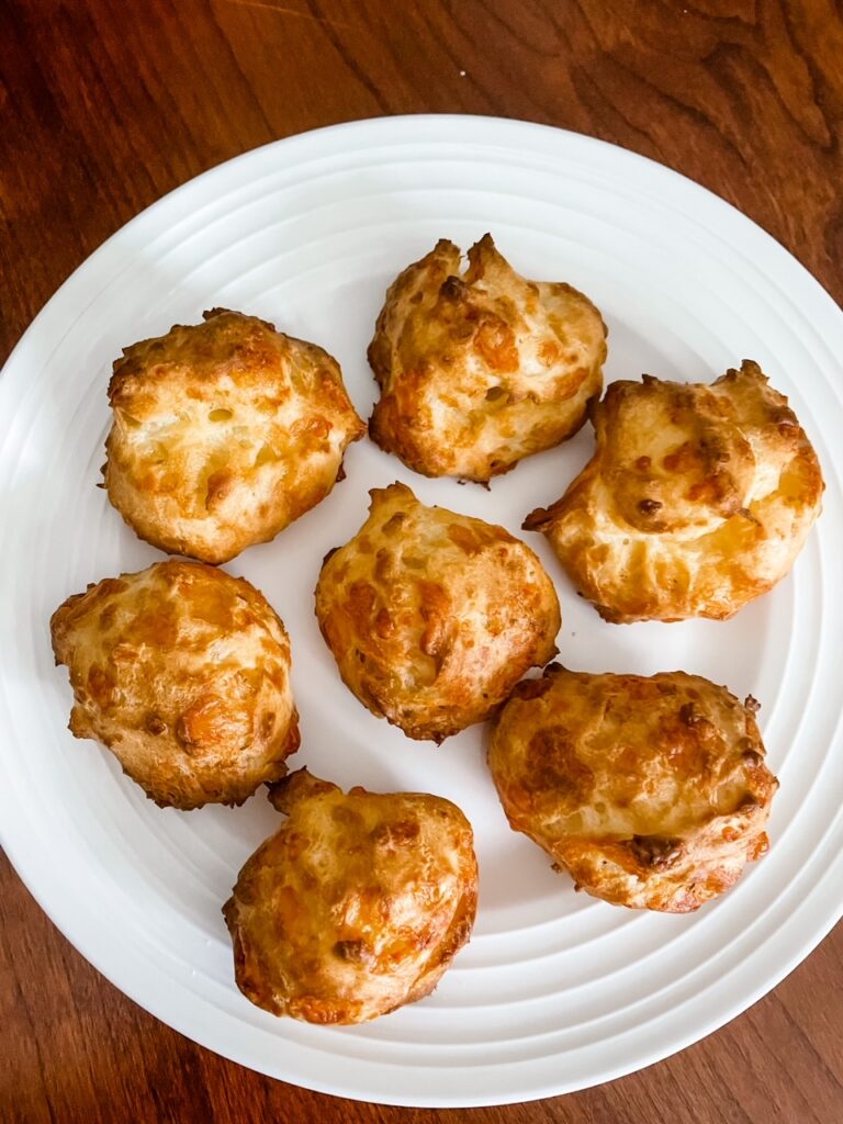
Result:
{"label": "round white ceramic plate with concentric ridges under the cheese puffs", "polygon": [[[575,895],[513,834],[483,763],[483,731],[413,743],[341,683],[314,618],[323,555],[395,479],[427,502],[502,523],[555,499],[590,427],[490,491],[423,479],[363,442],[347,480],[274,543],[228,569],[287,622],[302,718],[292,765],[347,786],[436,792],[472,821],[481,867],[471,944],[423,1003],[368,1025],[308,1026],[236,990],[220,905],[279,823],[238,809],[162,812],[110,755],[66,732],[71,692],[47,622],[85,583],[161,555],[94,484],[106,386],[120,347],[227,306],[336,355],[360,413],[365,345],[387,283],[446,236],[491,230],[531,278],[568,280],[609,325],[608,379],[708,380],[758,360],[816,444],[825,514],[795,573],[725,624],[613,626],[556,580],[572,668],[682,668],[762,701],[781,779],[772,850],[687,917]],[[245,1066],[312,1089],[404,1105],[542,1097],[627,1073],[715,1030],[773,987],[828,931],[843,887],[840,559],[843,316],[776,242],[688,180],[619,148],[484,118],[364,121],[272,144],[145,211],[62,287],[0,380],[3,843],[44,909],[123,991]],[[836,354],[835,354],[836,352]]]}

